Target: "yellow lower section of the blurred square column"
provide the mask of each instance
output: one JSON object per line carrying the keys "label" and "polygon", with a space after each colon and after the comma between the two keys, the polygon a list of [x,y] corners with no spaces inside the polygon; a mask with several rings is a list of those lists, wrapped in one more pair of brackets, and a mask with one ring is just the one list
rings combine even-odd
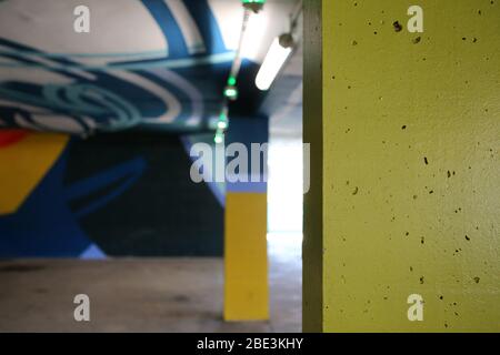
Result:
{"label": "yellow lower section of the blurred square column", "polygon": [[269,320],[267,194],[228,193],[224,320]]}

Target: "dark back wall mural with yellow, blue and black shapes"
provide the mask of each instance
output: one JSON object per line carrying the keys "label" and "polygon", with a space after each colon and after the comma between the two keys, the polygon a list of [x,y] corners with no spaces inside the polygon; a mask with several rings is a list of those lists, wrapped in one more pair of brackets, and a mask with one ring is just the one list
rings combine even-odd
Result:
{"label": "dark back wall mural with yellow, blue and black shapes", "polygon": [[182,140],[130,134],[0,131],[0,257],[221,255],[223,205]]}

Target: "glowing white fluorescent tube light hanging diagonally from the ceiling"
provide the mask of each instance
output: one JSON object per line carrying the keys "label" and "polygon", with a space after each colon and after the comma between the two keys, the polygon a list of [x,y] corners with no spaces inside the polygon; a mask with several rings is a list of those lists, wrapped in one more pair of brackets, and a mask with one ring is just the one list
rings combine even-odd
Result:
{"label": "glowing white fluorescent tube light hanging diagonally from the ceiling", "polygon": [[271,88],[292,49],[291,36],[282,34],[274,39],[256,78],[256,85],[259,90],[264,91]]}

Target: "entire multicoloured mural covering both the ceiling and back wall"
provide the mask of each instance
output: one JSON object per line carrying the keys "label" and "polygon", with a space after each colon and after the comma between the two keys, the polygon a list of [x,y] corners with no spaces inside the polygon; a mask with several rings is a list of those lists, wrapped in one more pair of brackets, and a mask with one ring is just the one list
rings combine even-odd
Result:
{"label": "entire multicoloured mural covering both the ceiling and back wall", "polygon": [[[81,4],[89,33],[73,30]],[[282,31],[272,11],[283,7],[268,9],[251,42]],[[222,254],[224,185],[194,184],[187,152],[213,142],[242,11],[239,0],[0,1],[0,257]],[[269,43],[246,47],[232,122],[256,115]]]}

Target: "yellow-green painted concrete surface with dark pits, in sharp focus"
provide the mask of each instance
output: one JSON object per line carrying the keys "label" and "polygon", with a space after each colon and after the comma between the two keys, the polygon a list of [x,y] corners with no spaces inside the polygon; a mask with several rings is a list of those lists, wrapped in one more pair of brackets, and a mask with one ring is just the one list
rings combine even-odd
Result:
{"label": "yellow-green painted concrete surface with dark pits, in sharp focus", "polygon": [[499,332],[500,1],[418,1],[423,33],[411,4],[322,2],[323,111],[304,120],[322,126],[322,285],[304,302],[321,292],[327,332]]}

